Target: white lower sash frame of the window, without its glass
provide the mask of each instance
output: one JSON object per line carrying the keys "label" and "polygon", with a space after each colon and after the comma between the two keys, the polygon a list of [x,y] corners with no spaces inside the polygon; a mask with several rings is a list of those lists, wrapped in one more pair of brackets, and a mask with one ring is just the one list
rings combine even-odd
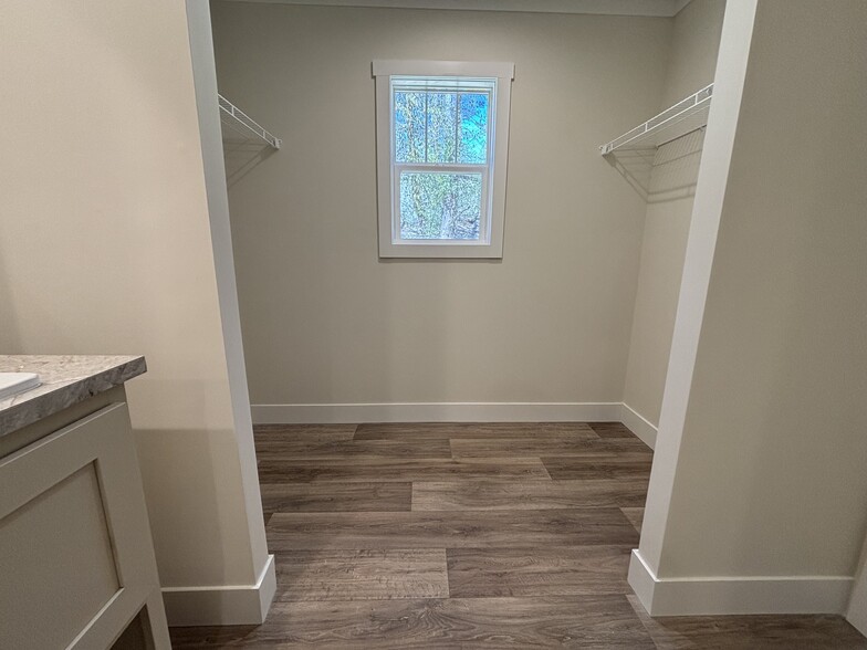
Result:
{"label": "white lower sash frame of the window, without its glass", "polygon": [[[479,206],[479,239],[404,239],[400,237],[400,175],[417,174],[480,174],[482,196]],[[406,245],[489,245],[491,243],[490,165],[439,165],[432,162],[391,164],[391,243]]]}

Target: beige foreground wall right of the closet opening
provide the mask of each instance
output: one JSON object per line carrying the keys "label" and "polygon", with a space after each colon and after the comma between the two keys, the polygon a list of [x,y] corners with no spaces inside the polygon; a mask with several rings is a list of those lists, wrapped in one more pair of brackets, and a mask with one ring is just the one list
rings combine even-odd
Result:
{"label": "beige foreground wall right of the closet opening", "polygon": [[865,25],[860,0],[759,2],[660,577],[855,573],[867,527],[867,149],[853,146],[867,139]]}

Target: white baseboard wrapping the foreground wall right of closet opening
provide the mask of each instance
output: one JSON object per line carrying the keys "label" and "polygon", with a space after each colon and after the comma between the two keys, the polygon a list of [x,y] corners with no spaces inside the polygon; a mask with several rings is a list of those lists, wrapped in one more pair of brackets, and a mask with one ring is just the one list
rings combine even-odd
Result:
{"label": "white baseboard wrapping the foreground wall right of closet opening", "polygon": [[650,616],[843,614],[846,576],[658,578],[635,549],[629,585]]}

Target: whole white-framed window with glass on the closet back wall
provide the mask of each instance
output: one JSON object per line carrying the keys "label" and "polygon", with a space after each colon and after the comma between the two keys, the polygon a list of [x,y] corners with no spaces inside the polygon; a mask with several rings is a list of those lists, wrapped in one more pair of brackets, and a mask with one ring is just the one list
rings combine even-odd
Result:
{"label": "whole white-framed window with glass on the closet back wall", "polygon": [[502,258],[513,70],[374,62],[380,258]]}

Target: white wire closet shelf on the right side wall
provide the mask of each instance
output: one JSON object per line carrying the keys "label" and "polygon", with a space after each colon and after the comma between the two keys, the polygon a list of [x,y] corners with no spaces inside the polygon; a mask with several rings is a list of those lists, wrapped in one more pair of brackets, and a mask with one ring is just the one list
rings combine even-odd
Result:
{"label": "white wire closet shelf on the right side wall", "polygon": [[599,154],[608,156],[618,150],[654,149],[703,128],[708,124],[712,95],[713,84],[709,84],[620,137],[602,145]]}

